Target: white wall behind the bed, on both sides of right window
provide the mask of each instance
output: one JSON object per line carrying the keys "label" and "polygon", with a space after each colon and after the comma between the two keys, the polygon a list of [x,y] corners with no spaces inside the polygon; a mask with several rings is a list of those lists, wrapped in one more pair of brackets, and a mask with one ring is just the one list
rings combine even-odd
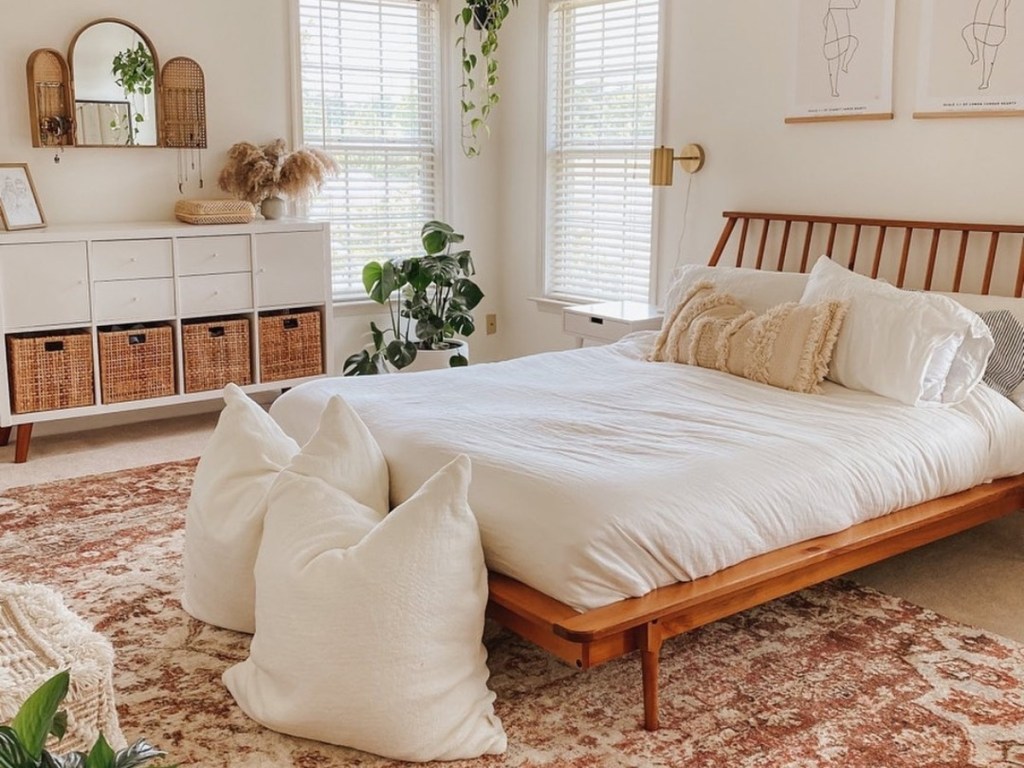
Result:
{"label": "white wall behind the bed, on both sides of right window", "polygon": [[[540,311],[541,101],[546,3],[522,3],[503,42],[502,286],[509,354],[566,347],[560,316]],[[1022,119],[912,120],[921,0],[897,3],[894,106],[885,122],[785,125],[793,38],[780,0],[666,0],[663,141],[696,141],[680,260],[703,262],[723,210],[966,221],[1022,219]],[[1009,43],[1009,40],[1008,40]],[[657,298],[683,233],[686,176],[655,190]]]}

